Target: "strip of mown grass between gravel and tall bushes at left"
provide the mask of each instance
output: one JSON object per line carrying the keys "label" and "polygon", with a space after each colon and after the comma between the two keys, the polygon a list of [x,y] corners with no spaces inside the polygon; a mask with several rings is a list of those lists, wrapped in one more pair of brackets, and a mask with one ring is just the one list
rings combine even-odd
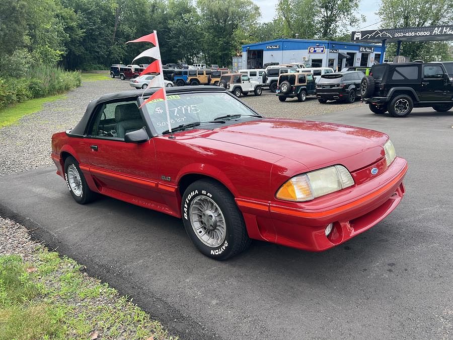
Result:
{"label": "strip of mown grass between gravel and tall bushes at left", "polygon": [[14,124],[23,116],[42,110],[43,105],[58,99],[65,98],[64,95],[30,99],[11,107],[0,110],[0,128]]}

